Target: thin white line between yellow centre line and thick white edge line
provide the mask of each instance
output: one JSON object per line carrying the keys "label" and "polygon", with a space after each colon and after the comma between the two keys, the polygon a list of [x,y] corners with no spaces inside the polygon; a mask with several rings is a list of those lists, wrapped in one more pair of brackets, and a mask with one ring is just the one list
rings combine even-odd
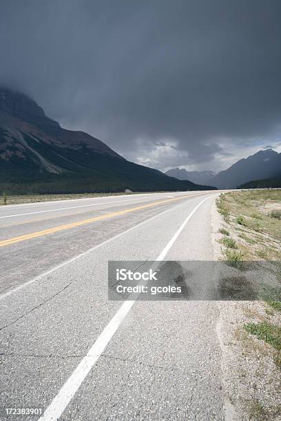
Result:
{"label": "thin white line between yellow centre line and thick white edge line", "polygon": [[[190,196],[190,199],[191,198],[196,198],[196,197],[197,196]],[[185,197],[185,199],[189,199],[189,197]],[[180,202],[179,204],[176,204],[172,208],[163,210],[163,212],[157,213],[153,217],[150,217],[148,219],[145,219],[145,221],[140,222],[139,224],[136,224],[136,225],[132,226],[131,228],[125,230],[125,231],[122,231],[122,233],[119,233],[117,235],[114,235],[114,237],[111,237],[111,238],[103,241],[102,243],[97,244],[96,246],[90,248],[89,250],[86,250],[85,252],[80,253],[79,255],[76,255],[76,256],[72,257],[71,259],[67,259],[67,260],[63,261],[62,263],[59,263],[59,265],[54,266],[52,269],[47,270],[46,272],[43,272],[43,273],[39,274],[37,277],[34,277],[33,279],[30,279],[30,281],[27,281],[25,283],[22,283],[21,285],[17,286],[16,288],[13,288],[10,291],[4,292],[3,294],[0,295],[0,301],[3,300],[3,299],[5,299],[7,296],[10,296],[10,295],[14,294],[14,292],[17,292],[19,290],[22,290],[23,288],[27,287],[28,285],[30,285],[30,284],[32,284],[34,282],[40,281],[40,279],[42,279],[43,277],[46,277],[49,274],[52,274],[52,272],[54,272],[55,270],[59,270],[59,269],[63,268],[64,266],[67,266],[69,263],[72,263],[72,261],[75,261],[77,259],[80,259],[81,257],[84,257],[84,256],[90,254],[92,251],[96,250],[96,248],[99,248],[101,246],[104,246],[105,244],[109,243],[110,241],[112,241],[112,240],[114,240],[114,239],[116,239],[118,237],[121,237],[121,235],[126,234],[126,233],[129,233],[129,231],[134,230],[134,228],[137,228],[138,226],[141,226],[141,225],[145,224],[146,222],[149,222],[152,219],[154,219],[154,218],[156,218],[156,217],[158,217],[160,215],[163,215],[163,213],[169,212],[169,210],[171,210],[171,209],[173,209],[173,208],[175,208],[177,206],[180,206],[182,204],[183,204],[183,202]]]}

